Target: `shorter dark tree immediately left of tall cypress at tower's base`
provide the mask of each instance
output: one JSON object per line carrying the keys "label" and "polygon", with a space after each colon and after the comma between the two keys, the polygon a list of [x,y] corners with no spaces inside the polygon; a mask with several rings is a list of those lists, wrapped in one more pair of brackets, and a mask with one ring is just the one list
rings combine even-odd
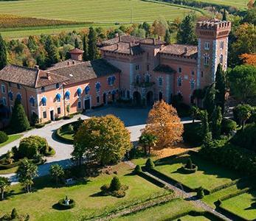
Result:
{"label": "shorter dark tree immediately left of tall cypress at tower's base", "polygon": [[208,116],[212,117],[212,112],[215,108],[215,83],[207,88],[204,97],[204,109],[207,111]]}

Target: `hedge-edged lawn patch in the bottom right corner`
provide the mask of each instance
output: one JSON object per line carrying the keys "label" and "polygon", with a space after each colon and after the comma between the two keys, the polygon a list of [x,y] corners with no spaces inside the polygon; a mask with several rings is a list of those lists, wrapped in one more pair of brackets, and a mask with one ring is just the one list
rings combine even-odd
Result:
{"label": "hedge-edged lawn patch in the bottom right corner", "polygon": [[254,220],[256,217],[256,191],[240,194],[229,200],[224,200],[221,207],[246,220]]}

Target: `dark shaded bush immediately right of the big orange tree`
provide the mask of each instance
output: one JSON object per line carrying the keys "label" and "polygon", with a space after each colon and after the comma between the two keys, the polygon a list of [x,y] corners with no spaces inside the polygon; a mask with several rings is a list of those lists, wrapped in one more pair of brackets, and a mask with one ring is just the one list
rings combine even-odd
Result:
{"label": "dark shaded bush immediately right of the big orange tree", "polygon": [[201,123],[184,124],[183,139],[194,147],[200,146],[203,142]]}

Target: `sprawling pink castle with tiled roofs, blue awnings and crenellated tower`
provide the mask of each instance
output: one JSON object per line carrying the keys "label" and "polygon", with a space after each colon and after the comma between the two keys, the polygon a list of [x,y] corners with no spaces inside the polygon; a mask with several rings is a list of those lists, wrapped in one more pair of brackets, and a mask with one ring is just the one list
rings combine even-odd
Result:
{"label": "sprawling pink castle with tiled roofs, blue awnings and crenellated tower", "polygon": [[83,62],[83,51],[73,49],[70,60],[46,71],[8,65],[0,71],[1,104],[11,112],[20,99],[41,122],[66,116],[67,106],[75,113],[117,98],[152,105],[181,94],[191,104],[196,88],[215,81],[218,64],[226,70],[230,30],[229,21],[214,18],[196,24],[198,46],[120,35],[101,43],[99,60]]}

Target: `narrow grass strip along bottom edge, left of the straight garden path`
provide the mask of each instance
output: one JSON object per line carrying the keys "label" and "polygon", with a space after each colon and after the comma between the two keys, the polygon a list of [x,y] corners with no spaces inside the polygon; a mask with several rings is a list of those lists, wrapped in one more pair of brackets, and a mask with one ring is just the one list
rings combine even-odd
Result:
{"label": "narrow grass strip along bottom edge, left of the straight garden path", "polygon": [[118,217],[114,220],[170,220],[172,217],[176,217],[179,214],[192,210],[200,211],[198,208],[195,208],[192,203],[185,200],[176,199],[163,205],[153,206],[145,209],[144,211],[139,211],[136,214]]}

